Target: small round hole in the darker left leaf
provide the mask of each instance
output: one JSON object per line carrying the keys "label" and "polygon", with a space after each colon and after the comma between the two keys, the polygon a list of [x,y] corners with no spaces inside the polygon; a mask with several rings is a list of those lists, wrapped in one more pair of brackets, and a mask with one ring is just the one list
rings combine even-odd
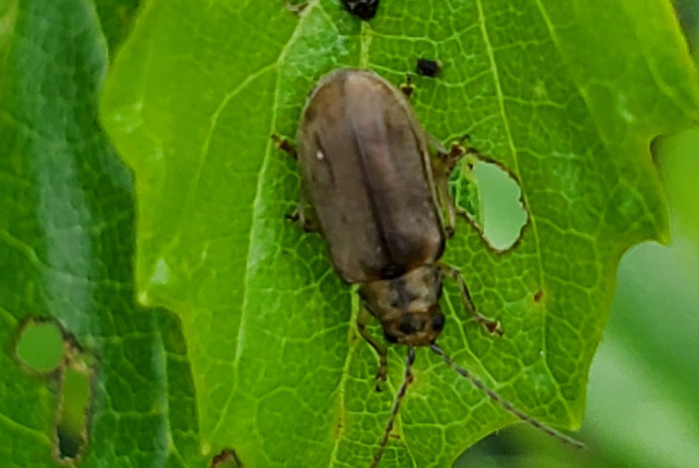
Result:
{"label": "small round hole in the darker left leaf", "polygon": [[63,360],[63,333],[55,322],[26,322],[17,340],[16,355],[34,372],[52,372]]}

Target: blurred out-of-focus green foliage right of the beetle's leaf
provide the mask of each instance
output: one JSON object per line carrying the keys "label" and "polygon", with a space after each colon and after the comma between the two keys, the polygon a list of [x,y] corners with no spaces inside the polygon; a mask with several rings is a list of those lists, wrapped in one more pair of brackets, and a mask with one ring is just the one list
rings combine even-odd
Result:
{"label": "blurred out-of-focus green foliage right of the beetle's leaf", "polygon": [[467,450],[454,468],[691,467],[699,459],[699,128],[653,148],[673,241],[637,245],[619,264],[590,368],[581,436],[591,449],[571,457],[570,447],[520,425]]}

